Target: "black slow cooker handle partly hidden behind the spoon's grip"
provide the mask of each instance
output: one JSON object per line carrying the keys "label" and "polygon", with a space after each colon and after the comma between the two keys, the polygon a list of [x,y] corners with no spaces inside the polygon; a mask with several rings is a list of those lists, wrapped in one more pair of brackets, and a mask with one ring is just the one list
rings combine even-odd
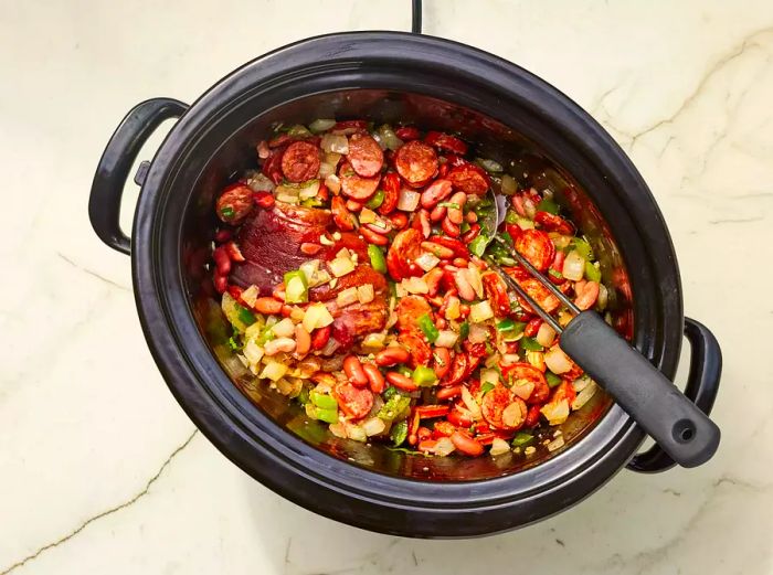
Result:
{"label": "black slow cooker handle partly hidden behind the spoon's grip", "polygon": [[[685,318],[685,337],[690,342],[690,372],[685,395],[706,415],[711,413],[722,375],[722,350],[713,333],[702,323]],[[636,455],[628,469],[642,473],[658,473],[676,462],[657,444]]]}

